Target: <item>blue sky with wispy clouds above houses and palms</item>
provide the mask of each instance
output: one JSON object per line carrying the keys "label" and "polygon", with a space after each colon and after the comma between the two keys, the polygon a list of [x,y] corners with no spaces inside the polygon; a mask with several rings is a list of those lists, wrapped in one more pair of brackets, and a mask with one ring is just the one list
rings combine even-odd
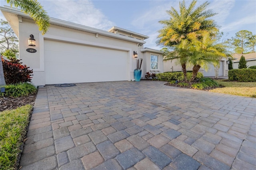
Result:
{"label": "blue sky with wispy clouds above houses and palms", "polygon": [[[52,18],[74,22],[108,31],[112,26],[144,34],[144,47],[162,49],[156,45],[160,20],[168,20],[166,10],[179,11],[180,0],[38,0]],[[189,6],[191,1],[185,1]],[[205,0],[198,0],[197,6]],[[256,0],[208,0],[207,9],[216,12],[212,17],[224,32],[224,39],[234,37],[240,30],[256,34]],[[0,6],[8,5],[0,0]],[[8,5],[9,6],[9,5]],[[0,14],[0,18],[4,16]]]}

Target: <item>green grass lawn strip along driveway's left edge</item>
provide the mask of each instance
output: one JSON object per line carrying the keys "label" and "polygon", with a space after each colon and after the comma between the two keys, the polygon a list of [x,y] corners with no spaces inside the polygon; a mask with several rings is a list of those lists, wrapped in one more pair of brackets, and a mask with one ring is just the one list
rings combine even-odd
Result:
{"label": "green grass lawn strip along driveway's left edge", "polygon": [[20,146],[26,135],[26,127],[32,110],[25,105],[13,110],[0,112],[0,169],[17,169]]}

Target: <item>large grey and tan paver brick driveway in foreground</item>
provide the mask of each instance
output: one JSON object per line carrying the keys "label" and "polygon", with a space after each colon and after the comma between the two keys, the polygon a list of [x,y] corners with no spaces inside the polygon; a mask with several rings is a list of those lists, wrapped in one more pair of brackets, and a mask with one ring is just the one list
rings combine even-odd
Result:
{"label": "large grey and tan paver brick driveway in foreground", "polygon": [[256,168],[256,100],[162,81],[40,87],[30,170]]}

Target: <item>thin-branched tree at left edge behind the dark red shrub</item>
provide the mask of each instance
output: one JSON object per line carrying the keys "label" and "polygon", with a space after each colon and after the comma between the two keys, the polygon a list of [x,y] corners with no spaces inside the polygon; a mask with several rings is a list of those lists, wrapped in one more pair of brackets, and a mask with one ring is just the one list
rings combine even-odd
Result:
{"label": "thin-branched tree at left edge behind the dark red shrub", "polygon": [[6,56],[9,54],[11,57],[18,55],[18,38],[8,22],[2,19],[0,20],[0,37],[0,52],[2,55]]}

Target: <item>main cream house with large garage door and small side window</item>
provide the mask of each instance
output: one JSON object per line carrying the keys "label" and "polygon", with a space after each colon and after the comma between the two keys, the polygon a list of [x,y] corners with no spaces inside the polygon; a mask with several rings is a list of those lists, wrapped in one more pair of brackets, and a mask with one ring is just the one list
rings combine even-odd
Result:
{"label": "main cream house with large garage door and small side window", "polygon": [[[20,10],[8,6],[0,10],[19,38],[20,59],[33,69],[34,85],[131,81],[136,69],[134,51],[143,59],[142,78],[146,72],[163,72],[163,51],[144,48],[148,36],[116,26],[104,31],[55,18],[50,18],[50,28],[42,35],[32,18]],[[31,34],[36,46],[28,46]]]}

